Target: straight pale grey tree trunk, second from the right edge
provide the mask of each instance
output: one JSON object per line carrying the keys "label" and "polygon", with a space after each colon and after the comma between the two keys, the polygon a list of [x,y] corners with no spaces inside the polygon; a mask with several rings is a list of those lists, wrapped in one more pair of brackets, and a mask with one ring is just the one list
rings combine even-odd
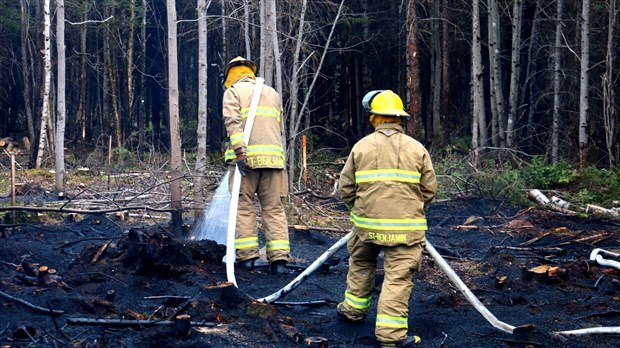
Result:
{"label": "straight pale grey tree trunk, second from the right edge", "polygon": [[579,166],[588,165],[588,88],[590,66],[590,0],[581,7],[581,64],[579,74]]}

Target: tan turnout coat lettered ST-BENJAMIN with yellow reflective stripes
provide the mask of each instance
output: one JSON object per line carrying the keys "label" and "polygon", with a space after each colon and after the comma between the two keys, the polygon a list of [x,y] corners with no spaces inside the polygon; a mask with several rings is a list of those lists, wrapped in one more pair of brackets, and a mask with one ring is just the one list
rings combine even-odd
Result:
{"label": "tan turnout coat lettered ST-BENJAMIN with yellow reflective stripes", "polygon": [[379,124],[355,144],[339,184],[362,241],[385,246],[424,241],[424,209],[437,182],[428,151],[400,125]]}

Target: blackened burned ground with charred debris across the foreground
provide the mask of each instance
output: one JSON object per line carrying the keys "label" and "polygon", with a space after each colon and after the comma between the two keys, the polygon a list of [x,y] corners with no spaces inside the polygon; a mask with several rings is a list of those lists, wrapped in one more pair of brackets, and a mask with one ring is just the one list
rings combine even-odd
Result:
{"label": "blackened burned ground with charred debris across the foreground", "polygon": [[[323,202],[310,199],[317,205]],[[332,213],[346,224],[346,212],[333,201],[330,204]],[[499,320],[514,326],[532,324],[535,329],[511,335],[493,328],[425,253],[422,271],[415,275],[409,318],[411,331],[422,337],[422,346],[620,346],[618,336],[552,335],[617,326],[620,275],[589,261],[594,248],[618,252],[617,222],[510,208],[485,199],[436,202],[428,218],[428,240],[480,301]],[[271,274],[266,263],[259,262],[255,270],[237,271],[240,291],[235,291],[225,283],[225,268],[219,261],[222,246],[172,238],[157,224],[85,215],[75,222],[4,228],[0,344],[293,347],[303,346],[305,338],[323,337],[330,347],[375,345],[376,300],[364,325],[341,323],[335,316],[335,304],[345,289],[344,249],[334,258],[340,262],[317,271],[279,303],[254,301],[286,285],[344,232],[291,225],[290,235],[293,261],[288,274]],[[37,279],[39,266],[56,273],[47,281]],[[380,275],[379,271],[375,298]],[[295,304],[308,301],[314,305]],[[45,313],[50,310],[63,313]],[[180,314],[188,314],[194,322],[189,335],[173,325],[142,322],[129,327],[113,321],[152,323]],[[107,324],[86,325],[87,319]]]}

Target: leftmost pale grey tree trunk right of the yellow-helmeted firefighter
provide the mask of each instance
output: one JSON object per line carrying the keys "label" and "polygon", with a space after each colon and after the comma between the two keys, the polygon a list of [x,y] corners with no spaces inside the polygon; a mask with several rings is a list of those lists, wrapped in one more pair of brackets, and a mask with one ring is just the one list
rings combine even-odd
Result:
{"label": "leftmost pale grey tree trunk right of the yellow-helmeted firefighter", "polygon": [[[482,84],[482,57],[480,43],[480,0],[472,1],[472,47],[471,47],[471,93],[472,93],[472,164],[476,165],[480,144],[486,143],[486,120],[484,112],[484,85]],[[479,135],[480,134],[480,135]],[[480,137],[480,142],[478,141]]]}

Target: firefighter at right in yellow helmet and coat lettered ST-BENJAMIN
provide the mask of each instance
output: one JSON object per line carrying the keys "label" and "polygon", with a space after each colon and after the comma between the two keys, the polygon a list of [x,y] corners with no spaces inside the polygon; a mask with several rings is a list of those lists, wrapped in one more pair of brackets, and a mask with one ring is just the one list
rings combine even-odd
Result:
{"label": "firefighter at right in yellow helmet and coat lettered ST-BENJAMIN", "polygon": [[353,146],[340,174],[339,194],[351,209],[355,233],[347,244],[347,289],[337,314],[346,322],[364,321],[383,251],[375,336],[382,347],[409,347],[420,342],[407,335],[409,297],[425,245],[424,210],[437,182],[426,148],[404,134],[403,118],[409,115],[398,95],[372,91],[362,104],[375,131]]}

